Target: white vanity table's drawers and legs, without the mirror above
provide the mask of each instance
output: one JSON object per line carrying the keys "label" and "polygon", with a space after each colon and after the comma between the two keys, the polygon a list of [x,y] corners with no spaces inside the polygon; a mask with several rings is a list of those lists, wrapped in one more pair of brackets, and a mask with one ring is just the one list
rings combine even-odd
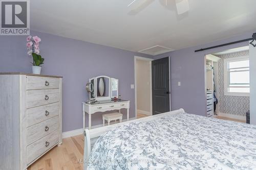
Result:
{"label": "white vanity table's drawers and legs, without the mirror above", "polygon": [[111,111],[111,110],[119,110],[119,113],[121,109],[127,109],[127,120],[129,120],[129,109],[130,109],[130,101],[111,101],[111,100],[104,100],[104,101],[98,101],[93,104],[88,104],[83,102],[82,103],[82,122],[83,122],[83,130],[86,129],[86,113],[89,114],[89,129],[91,129],[92,124],[92,118],[91,114],[94,114],[96,112],[105,112],[105,111]]}

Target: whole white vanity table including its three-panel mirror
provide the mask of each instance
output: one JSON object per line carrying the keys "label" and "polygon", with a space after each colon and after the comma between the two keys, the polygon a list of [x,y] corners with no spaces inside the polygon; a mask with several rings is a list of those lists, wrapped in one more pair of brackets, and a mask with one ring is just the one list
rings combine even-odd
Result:
{"label": "whole white vanity table including its three-panel mirror", "polygon": [[130,101],[118,99],[111,101],[111,98],[118,98],[118,79],[108,76],[91,78],[87,83],[87,91],[89,101],[82,102],[83,130],[86,129],[86,113],[89,114],[89,129],[92,127],[91,115],[96,112],[119,110],[121,113],[121,109],[127,109],[127,120],[129,120]]}

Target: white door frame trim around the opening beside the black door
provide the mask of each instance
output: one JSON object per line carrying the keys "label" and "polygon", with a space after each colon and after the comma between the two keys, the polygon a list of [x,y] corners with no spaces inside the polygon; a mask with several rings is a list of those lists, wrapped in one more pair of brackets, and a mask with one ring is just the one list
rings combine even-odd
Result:
{"label": "white door frame trim around the opening beside the black door", "polygon": [[150,62],[150,113],[153,115],[152,108],[152,61],[151,58],[134,56],[134,78],[135,78],[135,117],[137,118],[137,59]]}

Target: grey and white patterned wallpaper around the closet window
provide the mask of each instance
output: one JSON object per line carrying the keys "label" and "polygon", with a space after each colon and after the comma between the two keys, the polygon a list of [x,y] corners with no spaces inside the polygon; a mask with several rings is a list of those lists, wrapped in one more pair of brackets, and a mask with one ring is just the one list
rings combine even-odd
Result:
{"label": "grey and white patterned wallpaper around the closet window", "polygon": [[224,95],[224,59],[225,58],[233,58],[233,57],[241,57],[248,56],[249,51],[223,54],[218,57],[221,58],[218,62],[218,74],[219,74],[219,111],[221,113],[235,114],[246,116],[246,112],[250,108],[250,98],[245,96],[228,96]]}

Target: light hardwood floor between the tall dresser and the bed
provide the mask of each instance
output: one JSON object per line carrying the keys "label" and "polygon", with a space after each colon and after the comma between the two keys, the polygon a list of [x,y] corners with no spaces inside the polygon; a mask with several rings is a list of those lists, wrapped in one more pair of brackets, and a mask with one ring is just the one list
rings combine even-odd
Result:
{"label": "light hardwood floor between the tall dresser and the bed", "polygon": [[83,135],[73,136],[62,140],[62,144],[39,158],[28,170],[79,170],[83,169]]}

